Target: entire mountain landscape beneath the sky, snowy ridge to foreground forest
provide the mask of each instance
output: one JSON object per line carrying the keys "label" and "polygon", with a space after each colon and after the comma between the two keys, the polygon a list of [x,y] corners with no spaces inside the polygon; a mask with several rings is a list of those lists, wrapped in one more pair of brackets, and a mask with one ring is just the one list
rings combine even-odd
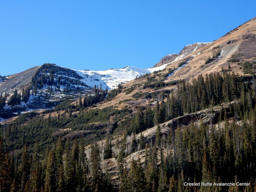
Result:
{"label": "entire mountain landscape beneath the sky, snowy ridge to foreground forest", "polygon": [[[1,122],[1,189],[253,191],[255,48],[253,18],[155,68],[86,71],[44,64],[24,73],[28,81],[1,77],[1,83],[13,78],[16,87],[30,90],[23,91],[31,93],[29,105],[41,101],[49,108]],[[135,79],[110,91],[90,87],[114,87],[128,80],[126,74]],[[20,96],[14,90],[7,99],[16,103]]]}

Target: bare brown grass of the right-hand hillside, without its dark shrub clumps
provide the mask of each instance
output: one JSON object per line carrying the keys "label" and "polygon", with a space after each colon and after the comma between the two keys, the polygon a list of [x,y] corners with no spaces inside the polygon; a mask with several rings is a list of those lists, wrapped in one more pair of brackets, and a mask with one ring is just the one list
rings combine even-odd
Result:
{"label": "bare brown grass of the right-hand hillside, without its dark shrub clumps", "polygon": [[[172,76],[167,77],[164,82],[170,82],[173,80],[184,79],[190,81],[197,75],[210,74],[212,72],[221,72],[221,70],[229,70],[230,72],[235,72],[235,74],[244,74],[241,65],[238,62],[229,62],[228,60],[236,58],[239,61],[255,61],[256,60],[256,18],[249,20],[243,25],[237,27],[236,29],[230,31],[225,36],[219,38],[218,40],[197,49],[195,52],[185,56],[183,59],[175,61],[166,66],[162,71],[152,73],[149,76],[167,74],[169,69],[177,68],[181,61],[189,61],[185,67],[174,71]],[[215,59],[206,64],[208,57],[213,57],[218,52],[221,52],[221,56],[215,56]],[[228,68],[230,65],[231,68]],[[158,77],[156,77],[158,78]],[[136,89],[134,89],[130,94],[124,92],[118,94],[112,101],[101,103],[97,105],[98,108],[104,108],[110,105],[116,105],[118,108],[124,106],[129,106],[134,108],[138,105],[140,106],[153,106],[154,103],[150,99],[144,98],[133,98],[132,95],[135,93],[161,93],[161,89],[142,89],[143,82],[146,82],[146,77],[136,78],[128,83],[124,84],[127,89],[135,84],[137,84]],[[139,84],[139,85],[138,85]],[[174,86],[165,87],[165,90],[172,91]],[[129,101],[125,101],[128,99]]]}

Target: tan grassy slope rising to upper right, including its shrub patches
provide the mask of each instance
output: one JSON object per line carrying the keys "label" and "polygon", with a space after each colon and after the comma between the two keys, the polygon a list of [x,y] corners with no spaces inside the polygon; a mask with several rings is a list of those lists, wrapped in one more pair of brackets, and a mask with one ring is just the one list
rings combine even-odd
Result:
{"label": "tan grassy slope rising to upper right, including its shrub patches", "polygon": [[[144,97],[135,99],[133,95],[136,93],[141,95],[155,93],[159,95],[162,91],[171,92],[175,89],[174,84],[178,80],[191,82],[199,74],[205,76],[213,72],[230,71],[243,75],[248,74],[250,70],[255,73],[256,66],[255,63],[253,64],[256,61],[255,48],[256,19],[253,18],[225,36],[195,50],[195,52],[182,59],[162,65],[165,68],[161,71],[125,83],[123,86],[126,89],[134,87],[135,84],[137,85],[136,89],[131,89],[132,91],[129,94],[124,90],[113,100],[101,103],[98,107],[104,108],[109,105],[116,105],[118,108],[122,108],[125,105],[129,105],[131,108],[135,108],[138,105],[151,106],[152,103],[150,103],[149,99]],[[151,83],[152,85],[156,82],[162,82],[161,84],[164,84],[164,86],[145,89],[143,86],[148,78],[154,79],[154,82]]]}

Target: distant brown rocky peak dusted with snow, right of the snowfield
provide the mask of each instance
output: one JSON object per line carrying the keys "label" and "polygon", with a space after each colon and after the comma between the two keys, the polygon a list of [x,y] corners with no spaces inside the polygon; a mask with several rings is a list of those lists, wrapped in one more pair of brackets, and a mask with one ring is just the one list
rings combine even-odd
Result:
{"label": "distant brown rocky peak dusted with snow, right of the snowfield", "polygon": [[195,43],[192,45],[186,45],[179,54],[169,54],[165,57],[163,57],[157,64],[155,64],[154,67],[159,67],[161,65],[171,63],[172,61],[177,61],[179,59],[182,59],[183,57],[195,52],[197,49],[203,47],[204,45],[207,45],[209,43]]}

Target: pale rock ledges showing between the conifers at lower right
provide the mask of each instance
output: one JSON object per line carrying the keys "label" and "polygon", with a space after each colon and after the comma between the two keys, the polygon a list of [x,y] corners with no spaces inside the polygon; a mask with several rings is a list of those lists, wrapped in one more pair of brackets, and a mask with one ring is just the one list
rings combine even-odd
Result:
{"label": "pale rock ledges showing between the conifers at lower right", "polygon": [[[233,105],[233,103],[234,102],[223,103],[222,104],[223,110],[226,110],[226,112],[229,112],[229,105]],[[212,109],[212,111],[211,111],[211,109],[205,109],[205,110],[201,110],[196,113],[187,114],[184,116],[174,118],[170,121],[166,121],[165,123],[160,124],[161,133],[163,135],[167,135],[173,129],[176,129],[178,125],[182,127],[185,125],[189,125],[191,122],[198,123],[200,121],[203,121],[203,123],[205,123],[205,124],[210,124],[210,123],[216,124],[218,122],[218,116],[221,112],[222,107],[216,106]],[[229,114],[229,117],[231,117],[231,116],[232,116],[232,114]],[[155,140],[156,129],[157,129],[157,126],[142,132],[142,134],[144,136],[144,141],[146,143],[150,143],[151,140],[153,140],[153,141]],[[140,133],[136,135],[137,143],[139,142],[139,138],[140,138]],[[121,137],[119,139],[121,139]],[[114,145],[115,141],[116,140],[112,141],[113,145]],[[103,140],[103,143],[104,142],[105,142],[105,140]],[[101,143],[98,142],[98,144],[100,145]],[[163,149],[163,156],[166,157],[167,148],[163,147],[162,149]],[[132,153],[125,158],[125,161],[127,163],[126,166],[128,169],[130,168],[132,159],[137,160],[138,158],[140,158],[140,163],[143,164],[145,162],[144,151],[145,151],[144,149],[138,150],[135,153]],[[87,154],[87,157],[90,157],[89,156],[90,155],[90,145],[85,147],[85,153]],[[168,153],[172,154],[172,150],[169,150]],[[157,158],[160,158],[160,154],[157,154]],[[111,159],[104,160],[103,166],[108,169],[108,172],[112,177],[112,182],[118,184],[119,180],[118,180],[118,168],[117,168],[116,159],[111,158]]]}

